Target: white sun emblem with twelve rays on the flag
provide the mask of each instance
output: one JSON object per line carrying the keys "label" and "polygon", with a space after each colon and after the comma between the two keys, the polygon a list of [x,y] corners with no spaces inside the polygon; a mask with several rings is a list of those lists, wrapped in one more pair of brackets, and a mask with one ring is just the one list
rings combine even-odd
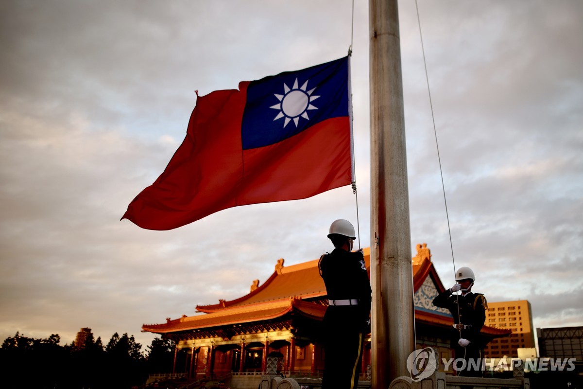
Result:
{"label": "white sun emblem with twelve rays on the flag", "polygon": [[311,95],[316,88],[306,91],[308,81],[306,81],[301,87],[298,87],[296,78],[296,82],[294,82],[291,89],[285,83],[283,84],[283,91],[285,94],[275,94],[275,97],[278,98],[280,103],[275,104],[275,106],[271,106],[270,108],[279,110],[278,115],[273,119],[274,121],[285,117],[283,128],[285,128],[291,120],[293,120],[297,128],[300,116],[306,120],[310,120],[310,117],[308,117],[308,110],[318,109],[310,103],[315,99],[318,99],[320,96]]}

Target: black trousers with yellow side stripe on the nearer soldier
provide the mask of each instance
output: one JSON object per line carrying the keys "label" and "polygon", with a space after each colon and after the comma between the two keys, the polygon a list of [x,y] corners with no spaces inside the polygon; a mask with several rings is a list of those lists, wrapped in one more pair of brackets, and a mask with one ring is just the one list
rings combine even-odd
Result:
{"label": "black trousers with yellow side stripe on the nearer soldier", "polygon": [[359,382],[364,328],[350,323],[349,307],[328,307],[324,316],[322,389],[355,389]]}

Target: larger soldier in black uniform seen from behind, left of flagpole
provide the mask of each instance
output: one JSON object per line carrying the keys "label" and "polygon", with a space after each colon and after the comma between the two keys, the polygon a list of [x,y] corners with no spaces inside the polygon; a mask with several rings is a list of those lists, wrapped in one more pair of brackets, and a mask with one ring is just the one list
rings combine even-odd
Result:
{"label": "larger soldier in black uniform seen from behind, left of flagpole", "polygon": [[320,257],[318,269],[326,285],[324,377],[322,389],[354,389],[359,381],[364,335],[368,332],[371,288],[360,249],[352,252],[354,227],[335,220],[328,238],[332,253]]}

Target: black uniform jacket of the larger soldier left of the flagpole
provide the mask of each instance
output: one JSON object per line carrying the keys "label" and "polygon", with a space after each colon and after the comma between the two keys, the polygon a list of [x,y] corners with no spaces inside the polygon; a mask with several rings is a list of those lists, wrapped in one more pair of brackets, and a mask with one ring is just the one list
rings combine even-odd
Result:
{"label": "black uniform jacket of the larger soldier left of the flagpole", "polygon": [[362,251],[352,253],[335,248],[332,253],[322,256],[318,267],[326,285],[328,299],[359,300],[357,306],[329,306],[324,316],[324,324],[342,317],[341,320],[346,325],[352,323],[357,327],[366,327],[372,290]]}

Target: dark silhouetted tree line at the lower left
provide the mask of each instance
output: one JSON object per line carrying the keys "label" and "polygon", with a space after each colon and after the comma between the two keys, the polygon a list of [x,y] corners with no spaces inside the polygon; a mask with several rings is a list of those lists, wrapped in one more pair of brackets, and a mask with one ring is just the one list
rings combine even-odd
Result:
{"label": "dark silhouetted tree line at the lower left", "polygon": [[104,346],[88,334],[85,346],[60,345],[61,337],[28,338],[16,332],[0,348],[2,388],[129,389],[142,387],[150,373],[170,373],[174,342],[154,338],[142,353],[134,335],[116,332]]}

